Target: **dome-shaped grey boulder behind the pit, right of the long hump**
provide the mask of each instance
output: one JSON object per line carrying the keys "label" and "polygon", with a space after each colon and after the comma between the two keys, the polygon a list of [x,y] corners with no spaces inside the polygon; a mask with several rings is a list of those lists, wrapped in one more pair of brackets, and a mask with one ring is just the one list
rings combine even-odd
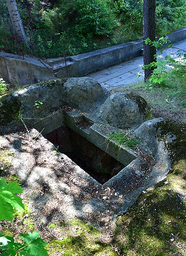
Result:
{"label": "dome-shaped grey boulder behind the pit, right of the long hump", "polygon": [[114,93],[100,106],[97,117],[118,128],[130,128],[144,122],[147,102],[138,95]]}

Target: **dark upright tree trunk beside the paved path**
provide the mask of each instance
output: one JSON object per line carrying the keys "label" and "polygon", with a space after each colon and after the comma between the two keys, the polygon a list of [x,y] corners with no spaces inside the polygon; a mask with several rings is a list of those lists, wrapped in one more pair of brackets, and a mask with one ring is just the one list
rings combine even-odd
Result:
{"label": "dark upright tree trunk beside the paved path", "polygon": [[[151,41],[155,41],[155,0],[144,0],[143,5],[143,40],[144,40],[144,65],[148,65],[153,61],[156,61],[156,48],[145,44],[145,40],[150,38]],[[147,81],[154,68],[148,68],[144,70],[145,81]]]}

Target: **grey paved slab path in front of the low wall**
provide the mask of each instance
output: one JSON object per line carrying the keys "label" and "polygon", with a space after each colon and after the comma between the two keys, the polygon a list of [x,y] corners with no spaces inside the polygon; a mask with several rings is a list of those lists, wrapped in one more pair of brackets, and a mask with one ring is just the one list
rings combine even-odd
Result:
{"label": "grey paved slab path in front of the low wall", "polygon": [[[186,39],[175,44],[175,47],[186,50]],[[158,58],[169,55],[172,58],[178,59],[177,53],[178,49],[167,48],[163,50],[163,54],[158,54]],[[88,74],[87,76],[97,80],[103,87],[109,90],[121,85],[134,83],[138,80],[138,76],[136,75],[138,72],[141,73],[139,81],[143,80],[144,71],[141,69],[142,66],[143,56],[139,56]]]}

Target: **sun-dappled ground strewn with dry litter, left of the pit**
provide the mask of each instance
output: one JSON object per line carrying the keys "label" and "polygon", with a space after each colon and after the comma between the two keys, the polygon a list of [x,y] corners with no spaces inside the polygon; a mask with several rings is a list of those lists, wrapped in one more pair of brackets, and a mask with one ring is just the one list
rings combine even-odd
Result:
{"label": "sun-dappled ground strewn with dry litter, left of the pit", "polygon": [[[93,179],[83,177],[87,174],[79,166],[34,129],[0,137],[0,144],[3,149],[14,151],[12,166],[0,162],[1,176],[16,174],[22,180],[21,197],[29,201],[37,220],[47,226],[78,217],[102,230],[111,230],[114,227],[112,216],[123,201],[123,195],[118,192],[120,187],[127,193],[142,183],[142,178],[133,174],[119,184],[117,191],[99,186]],[[144,161],[140,171],[145,175],[151,171],[155,159],[143,151],[139,151],[138,156]],[[99,211],[86,205],[95,200]]]}

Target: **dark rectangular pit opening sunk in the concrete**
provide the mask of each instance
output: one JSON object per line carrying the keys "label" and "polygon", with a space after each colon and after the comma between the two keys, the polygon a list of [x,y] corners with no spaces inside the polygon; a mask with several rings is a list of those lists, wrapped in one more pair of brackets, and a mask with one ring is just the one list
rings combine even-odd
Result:
{"label": "dark rectangular pit opening sunk in the concrete", "polygon": [[101,184],[125,167],[66,125],[46,134],[45,138]]}

